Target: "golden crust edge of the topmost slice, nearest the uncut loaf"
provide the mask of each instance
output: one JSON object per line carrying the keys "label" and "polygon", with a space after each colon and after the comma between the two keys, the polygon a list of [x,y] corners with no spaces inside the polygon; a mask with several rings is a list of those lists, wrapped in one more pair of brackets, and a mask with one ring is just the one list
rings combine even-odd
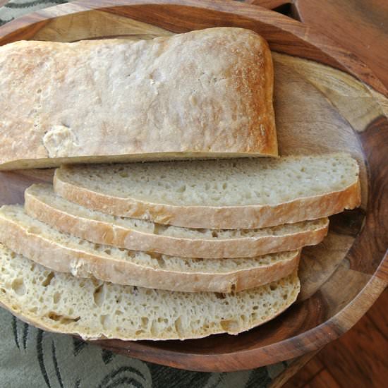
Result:
{"label": "golden crust edge of the topmost slice, nearest the uncut loaf", "polygon": [[[65,167],[66,168],[66,167]],[[54,174],[54,191],[71,202],[119,217],[148,219],[157,224],[187,228],[255,229],[294,224],[354,209],[361,203],[360,181],[344,190],[298,198],[277,205],[186,206],[155,204],[135,198],[106,195],[66,181],[61,169]]]}

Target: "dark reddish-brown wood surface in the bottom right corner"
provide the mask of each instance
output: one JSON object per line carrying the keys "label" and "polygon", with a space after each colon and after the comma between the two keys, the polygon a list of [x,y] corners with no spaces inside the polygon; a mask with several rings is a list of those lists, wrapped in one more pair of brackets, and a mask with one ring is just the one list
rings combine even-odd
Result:
{"label": "dark reddish-brown wood surface in the bottom right corner", "polygon": [[[367,314],[344,336],[325,346],[291,379],[285,376],[274,380],[286,382],[284,388],[331,387],[385,387],[388,361],[388,289],[386,289]],[[292,371],[291,371],[292,372]],[[287,374],[287,375],[286,375]],[[287,381],[288,380],[288,381]]]}

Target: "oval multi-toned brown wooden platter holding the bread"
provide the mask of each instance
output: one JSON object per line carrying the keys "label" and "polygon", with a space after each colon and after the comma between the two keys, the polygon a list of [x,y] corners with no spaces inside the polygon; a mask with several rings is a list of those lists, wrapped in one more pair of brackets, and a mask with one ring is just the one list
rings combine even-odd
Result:
{"label": "oval multi-toned brown wooden platter holding the bread", "polygon": [[[361,167],[363,205],[332,217],[329,236],[303,250],[299,301],[236,337],[99,341],[118,353],[177,368],[255,368],[316,350],[353,326],[388,284],[387,90],[351,53],[301,23],[236,1],[75,1],[0,28],[0,44],[99,37],[150,39],[214,26],[250,28],[272,48],[281,154],[348,151]],[[0,204],[50,181],[51,170],[0,174]],[[385,254],[385,255],[384,255]]]}

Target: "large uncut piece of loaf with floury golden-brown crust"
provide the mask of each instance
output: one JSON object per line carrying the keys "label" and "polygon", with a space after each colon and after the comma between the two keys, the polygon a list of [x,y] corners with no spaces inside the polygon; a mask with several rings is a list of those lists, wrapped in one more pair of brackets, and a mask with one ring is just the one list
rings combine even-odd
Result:
{"label": "large uncut piece of loaf with floury golden-brown crust", "polygon": [[0,169],[277,156],[274,72],[251,30],[0,47]]}

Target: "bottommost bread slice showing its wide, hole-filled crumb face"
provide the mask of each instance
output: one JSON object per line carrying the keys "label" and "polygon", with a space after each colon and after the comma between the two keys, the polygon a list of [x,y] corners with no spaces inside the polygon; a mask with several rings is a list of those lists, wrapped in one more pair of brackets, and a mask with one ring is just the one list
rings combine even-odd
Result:
{"label": "bottommost bread slice showing its wide, hole-filled crumb face", "polygon": [[[53,253],[54,254],[54,253]],[[83,339],[192,339],[238,334],[296,300],[296,272],[238,293],[121,286],[52,272],[0,244],[0,305],[25,322]]]}

